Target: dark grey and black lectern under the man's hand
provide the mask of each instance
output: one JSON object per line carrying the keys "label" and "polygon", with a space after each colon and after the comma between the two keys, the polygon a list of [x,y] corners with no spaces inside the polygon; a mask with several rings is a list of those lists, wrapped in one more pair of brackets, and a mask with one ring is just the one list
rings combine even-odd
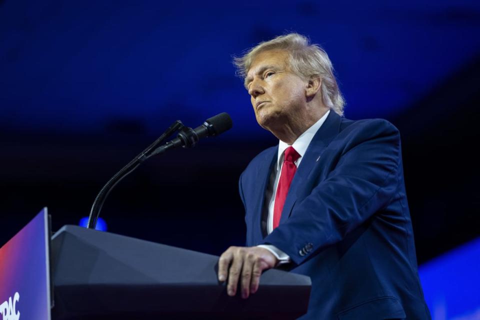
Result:
{"label": "dark grey and black lectern under the man's hand", "polygon": [[118,234],[63,226],[51,241],[52,319],[292,319],[310,279],[270,269],[248,299],[229,297],[218,257]]}

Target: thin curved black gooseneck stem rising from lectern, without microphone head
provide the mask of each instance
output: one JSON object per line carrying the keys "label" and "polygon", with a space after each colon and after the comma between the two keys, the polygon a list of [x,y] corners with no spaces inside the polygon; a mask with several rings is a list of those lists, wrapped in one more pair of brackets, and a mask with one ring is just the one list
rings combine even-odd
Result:
{"label": "thin curved black gooseneck stem rising from lectern, without microphone head", "polygon": [[125,176],[127,176],[130,172],[132,172],[141,162],[146,160],[151,156],[151,152],[158,148],[159,144],[165,140],[168,136],[170,136],[173,132],[183,127],[183,124],[180,120],[176,120],[173,122],[166,130],[163,132],[153,143],[151,143],[146,149],[140,152],[137,156],[135,156],[130,162],[128,162],[124,167],[120,169],[120,171],[116,172],[108,182],[103,185],[100,192],[95,197],[95,201],[93,201],[93,205],[90,209],[90,215],[88,216],[88,222],[86,224],[87,228],[94,229],[96,225],[96,220],[100,215],[100,210],[105,201],[108,193],[110,193],[111,189],[121,181]]}

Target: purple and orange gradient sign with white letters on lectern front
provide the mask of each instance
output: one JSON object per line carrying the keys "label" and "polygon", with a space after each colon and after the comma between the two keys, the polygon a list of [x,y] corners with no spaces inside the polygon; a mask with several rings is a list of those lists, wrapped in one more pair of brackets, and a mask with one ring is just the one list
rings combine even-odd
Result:
{"label": "purple and orange gradient sign with white letters on lectern front", "polygon": [[0,248],[0,314],[9,314],[15,293],[19,294],[8,319],[17,319],[18,312],[21,319],[50,319],[47,230],[43,208]]}

